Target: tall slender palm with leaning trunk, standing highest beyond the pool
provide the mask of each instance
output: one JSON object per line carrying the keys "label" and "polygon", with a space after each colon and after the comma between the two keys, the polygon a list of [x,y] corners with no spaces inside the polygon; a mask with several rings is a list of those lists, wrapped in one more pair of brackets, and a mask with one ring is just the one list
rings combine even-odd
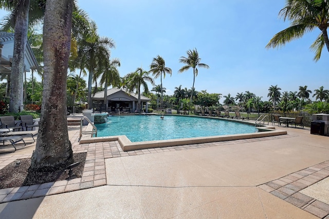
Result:
{"label": "tall slender palm with leaning trunk, standing highest beyond the pool", "polygon": [[[201,59],[199,58],[199,54],[198,54],[196,48],[194,48],[193,51],[190,49],[186,53],[187,53],[187,57],[182,56],[179,59],[179,62],[184,63],[186,65],[181,67],[179,69],[178,73],[182,73],[184,71],[189,70],[190,68],[193,68],[193,85],[192,85],[192,92],[193,92],[195,77],[197,76],[197,73],[198,73],[197,67],[209,68],[209,66],[207,64],[200,63]],[[193,94],[191,95],[188,114],[190,114],[192,98],[193,98]]]}

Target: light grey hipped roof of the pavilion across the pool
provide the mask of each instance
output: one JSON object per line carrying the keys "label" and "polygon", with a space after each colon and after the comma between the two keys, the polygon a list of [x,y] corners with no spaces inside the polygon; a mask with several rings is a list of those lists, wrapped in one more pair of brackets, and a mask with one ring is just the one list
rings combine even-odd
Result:
{"label": "light grey hipped roof of the pavilion across the pool", "polygon": [[[104,99],[104,90],[101,92],[98,92],[94,95],[93,100],[103,100]],[[115,97],[117,99],[118,96],[122,97],[130,97],[131,101],[137,101],[138,100],[138,94],[135,94],[133,92],[129,92],[126,89],[120,89],[120,88],[111,88],[107,90],[107,99],[111,99],[112,97]],[[140,95],[141,101],[150,101],[150,98],[147,98],[143,95]]]}

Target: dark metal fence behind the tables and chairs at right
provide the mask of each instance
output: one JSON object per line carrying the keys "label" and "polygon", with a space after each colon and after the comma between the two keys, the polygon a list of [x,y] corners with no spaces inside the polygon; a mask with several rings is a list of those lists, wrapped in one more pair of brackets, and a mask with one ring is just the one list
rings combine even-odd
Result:
{"label": "dark metal fence behind the tables and chairs at right", "polygon": [[[233,113],[234,114],[234,113]],[[246,117],[249,120],[257,120],[261,115],[265,116],[267,115],[265,122],[271,123],[273,121],[272,115],[278,115],[279,117],[291,117],[291,118],[296,118],[298,116],[303,117],[303,123],[304,126],[310,127],[310,122],[312,121],[312,114],[309,113],[245,113],[245,112],[240,112],[241,116]]]}

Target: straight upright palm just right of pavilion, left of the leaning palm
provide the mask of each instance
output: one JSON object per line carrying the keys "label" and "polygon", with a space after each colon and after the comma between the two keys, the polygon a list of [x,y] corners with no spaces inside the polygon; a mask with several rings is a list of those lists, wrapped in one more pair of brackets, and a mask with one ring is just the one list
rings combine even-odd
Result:
{"label": "straight upright palm just right of pavilion, left of the leaning palm", "polygon": [[163,79],[165,79],[166,74],[169,74],[171,76],[172,70],[171,70],[171,68],[166,67],[165,60],[162,57],[160,57],[159,55],[156,58],[153,58],[150,68],[151,68],[150,72],[152,72],[152,76],[154,77],[154,79],[157,79],[158,77],[160,77],[161,108],[163,108],[162,75],[163,75]]}

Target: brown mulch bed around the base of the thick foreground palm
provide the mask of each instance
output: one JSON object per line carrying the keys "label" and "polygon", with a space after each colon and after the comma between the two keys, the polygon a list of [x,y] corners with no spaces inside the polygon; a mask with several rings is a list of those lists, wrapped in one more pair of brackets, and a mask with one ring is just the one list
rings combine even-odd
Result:
{"label": "brown mulch bed around the base of the thick foreground palm", "polygon": [[80,164],[77,167],[72,168],[71,172],[68,170],[61,170],[44,173],[34,172],[29,174],[28,168],[31,165],[31,158],[15,160],[0,170],[0,189],[80,178],[82,176],[86,156],[87,153],[73,154],[74,162],[80,162]]}

